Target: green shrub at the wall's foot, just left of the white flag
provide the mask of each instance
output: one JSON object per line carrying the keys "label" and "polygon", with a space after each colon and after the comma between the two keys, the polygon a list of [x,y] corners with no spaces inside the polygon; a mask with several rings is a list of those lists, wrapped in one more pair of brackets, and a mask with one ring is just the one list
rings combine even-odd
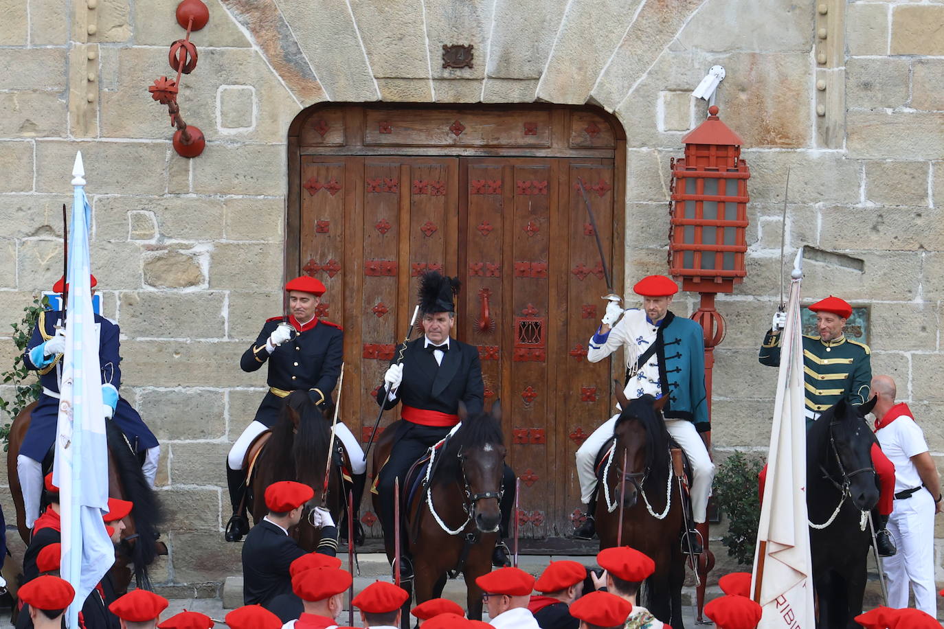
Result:
{"label": "green shrub at the wall's foot, just left of the white flag", "polygon": [[721,542],[728,547],[728,555],[740,564],[750,565],[754,561],[757,526],[761,518],[757,474],[764,463],[764,458],[759,455],[737,452],[718,466],[715,476],[717,504],[728,514],[728,533]]}

